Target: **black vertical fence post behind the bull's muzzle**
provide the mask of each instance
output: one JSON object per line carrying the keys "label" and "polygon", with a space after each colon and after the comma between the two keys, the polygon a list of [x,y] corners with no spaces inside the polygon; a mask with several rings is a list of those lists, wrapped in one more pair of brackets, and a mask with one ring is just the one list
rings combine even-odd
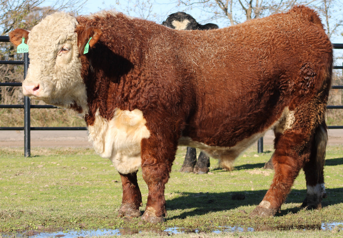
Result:
{"label": "black vertical fence post behind the bull's muzzle", "polygon": [[[28,68],[28,53],[24,53],[24,79]],[[24,97],[24,156],[31,156],[31,122],[30,122],[30,99]]]}

